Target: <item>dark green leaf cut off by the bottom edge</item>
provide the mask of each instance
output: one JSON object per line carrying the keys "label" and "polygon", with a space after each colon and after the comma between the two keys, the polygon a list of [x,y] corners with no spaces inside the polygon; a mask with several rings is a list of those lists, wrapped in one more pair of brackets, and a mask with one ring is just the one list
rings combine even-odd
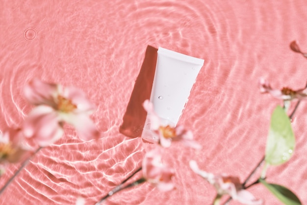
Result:
{"label": "dark green leaf cut off by the bottom edge", "polygon": [[302,205],[299,198],[284,186],[278,184],[267,183],[264,179],[259,181],[272,193],[274,194],[283,204],[285,205]]}

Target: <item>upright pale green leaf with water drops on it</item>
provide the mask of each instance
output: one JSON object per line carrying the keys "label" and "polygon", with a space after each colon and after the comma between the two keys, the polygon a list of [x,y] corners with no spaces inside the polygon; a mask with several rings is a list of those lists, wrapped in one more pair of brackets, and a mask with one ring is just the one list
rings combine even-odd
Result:
{"label": "upright pale green leaf with water drops on it", "polygon": [[265,149],[265,161],[270,165],[285,163],[292,156],[295,137],[291,122],[281,106],[277,106],[271,117],[271,126]]}

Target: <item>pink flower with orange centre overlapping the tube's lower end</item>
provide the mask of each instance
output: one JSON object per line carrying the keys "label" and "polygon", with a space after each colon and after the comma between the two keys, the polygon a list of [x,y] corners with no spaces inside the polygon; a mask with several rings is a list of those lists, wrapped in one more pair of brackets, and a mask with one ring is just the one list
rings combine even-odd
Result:
{"label": "pink flower with orange centre overlapping the tube's lower end", "polygon": [[159,136],[159,143],[161,146],[169,147],[171,146],[172,141],[182,141],[186,146],[190,146],[195,149],[201,148],[197,142],[193,141],[193,133],[189,130],[185,130],[183,126],[164,126],[160,117],[158,117],[158,115],[154,112],[153,103],[151,103],[149,100],[145,100],[143,107],[149,115],[151,130],[153,130],[154,134]]}

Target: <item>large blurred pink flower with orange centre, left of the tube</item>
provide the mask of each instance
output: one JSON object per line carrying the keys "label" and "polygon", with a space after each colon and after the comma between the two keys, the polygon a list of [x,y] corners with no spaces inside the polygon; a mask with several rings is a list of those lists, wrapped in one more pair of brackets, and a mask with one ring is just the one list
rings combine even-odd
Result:
{"label": "large blurred pink flower with orange centre, left of the tube", "polygon": [[89,117],[94,106],[81,90],[34,79],[26,85],[25,96],[36,107],[25,120],[24,133],[35,139],[39,146],[57,141],[64,133],[64,122],[73,125],[84,140],[99,137]]}

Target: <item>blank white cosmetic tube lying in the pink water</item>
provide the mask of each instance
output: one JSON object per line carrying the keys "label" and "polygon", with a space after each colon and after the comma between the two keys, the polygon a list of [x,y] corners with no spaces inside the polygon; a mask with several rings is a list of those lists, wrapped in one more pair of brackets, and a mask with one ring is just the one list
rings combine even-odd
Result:
{"label": "blank white cosmetic tube lying in the pink water", "polygon": [[[203,65],[203,59],[159,47],[150,101],[163,126],[177,125]],[[142,138],[149,142],[158,140],[151,134],[148,117]]]}

